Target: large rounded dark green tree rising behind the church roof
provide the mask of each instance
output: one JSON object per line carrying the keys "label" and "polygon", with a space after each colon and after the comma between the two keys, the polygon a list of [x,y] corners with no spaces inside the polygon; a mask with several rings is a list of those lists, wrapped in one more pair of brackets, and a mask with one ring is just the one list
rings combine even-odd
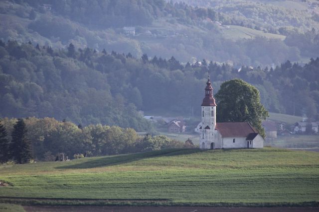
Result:
{"label": "large rounded dark green tree rising behind the church roof", "polygon": [[242,79],[231,79],[221,84],[215,97],[217,122],[249,122],[265,138],[261,122],[269,115],[256,87]]}

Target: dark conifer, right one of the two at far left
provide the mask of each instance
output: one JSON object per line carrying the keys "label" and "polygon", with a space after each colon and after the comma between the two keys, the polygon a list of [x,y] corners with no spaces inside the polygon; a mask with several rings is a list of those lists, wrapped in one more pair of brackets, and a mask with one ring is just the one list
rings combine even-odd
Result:
{"label": "dark conifer, right one of the two at far left", "polygon": [[18,119],[13,127],[10,145],[11,158],[17,163],[27,163],[32,159],[31,141],[27,139],[26,133],[23,119]]}

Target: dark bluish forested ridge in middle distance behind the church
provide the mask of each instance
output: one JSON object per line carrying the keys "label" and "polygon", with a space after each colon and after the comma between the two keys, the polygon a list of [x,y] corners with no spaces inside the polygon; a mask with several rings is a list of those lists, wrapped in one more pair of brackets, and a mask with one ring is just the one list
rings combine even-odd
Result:
{"label": "dark bluish forested ridge in middle distance behind the church", "polygon": [[270,112],[318,120],[319,58],[275,68],[217,64],[203,59],[181,64],[173,56],[135,58],[94,49],[52,49],[0,42],[0,117],[53,117],[82,126],[117,125],[152,131],[144,111],[198,117],[207,75],[214,92],[241,78],[258,88]]}

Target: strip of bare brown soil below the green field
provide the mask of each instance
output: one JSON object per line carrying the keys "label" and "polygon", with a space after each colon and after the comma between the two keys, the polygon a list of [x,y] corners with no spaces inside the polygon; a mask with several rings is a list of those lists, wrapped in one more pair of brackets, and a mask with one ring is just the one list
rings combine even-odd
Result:
{"label": "strip of bare brown soil below the green field", "polygon": [[242,207],[92,207],[24,206],[26,212],[319,212],[311,207],[242,208]]}

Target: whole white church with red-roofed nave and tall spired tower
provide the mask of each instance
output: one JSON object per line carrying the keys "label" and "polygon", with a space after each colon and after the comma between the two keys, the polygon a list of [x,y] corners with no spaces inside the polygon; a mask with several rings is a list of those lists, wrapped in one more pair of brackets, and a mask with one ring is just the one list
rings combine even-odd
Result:
{"label": "whole white church with red-roofed nave and tall spired tower", "polygon": [[263,137],[248,122],[216,123],[216,103],[208,76],[201,104],[200,149],[263,148]]}

